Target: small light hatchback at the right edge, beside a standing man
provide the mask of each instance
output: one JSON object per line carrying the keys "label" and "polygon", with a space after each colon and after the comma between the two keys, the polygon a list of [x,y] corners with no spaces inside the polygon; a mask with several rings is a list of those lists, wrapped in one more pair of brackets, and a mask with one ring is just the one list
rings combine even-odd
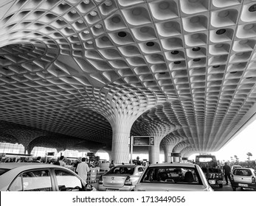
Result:
{"label": "small light hatchback at the right edge, beside a standing man", "polygon": [[256,191],[256,171],[253,168],[235,168],[231,174],[231,186],[236,188],[252,188]]}

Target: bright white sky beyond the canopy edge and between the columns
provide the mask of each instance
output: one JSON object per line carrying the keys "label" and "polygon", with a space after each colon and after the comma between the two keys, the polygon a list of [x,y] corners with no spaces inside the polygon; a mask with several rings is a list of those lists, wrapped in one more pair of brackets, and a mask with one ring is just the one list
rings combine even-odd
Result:
{"label": "bright white sky beyond the canopy edge and between the columns", "polygon": [[[250,160],[256,160],[256,120],[249,124],[245,129],[242,130],[232,141],[229,141],[222,149],[218,152],[211,152],[210,154],[214,154],[217,160],[229,160],[230,157],[234,158],[234,155],[237,155],[239,160],[244,161],[247,160],[247,153],[251,152],[252,157]],[[108,160],[108,154],[98,152],[101,159]],[[136,156],[142,159],[148,159],[148,154],[134,154],[133,159],[136,159]],[[193,154],[189,157],[189,160],[195,160],[196,154]],[[235,159],[235,158],[234,158]],[[164,154],[160,154],[160,163],[164,162],[165,156]]]}

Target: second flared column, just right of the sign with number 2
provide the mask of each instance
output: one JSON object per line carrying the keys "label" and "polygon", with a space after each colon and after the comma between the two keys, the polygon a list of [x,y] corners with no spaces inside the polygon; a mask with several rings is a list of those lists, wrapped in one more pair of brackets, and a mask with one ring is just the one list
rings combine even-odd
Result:
{"label": "second flared column, just right of the sign with number 2", "polygon": [[162,139],[160,146],[164,149],[165,163],[170,163],[172,161],[171,153],[173,152],[173,147],[182,140],[183,138],[177,131],[171,132]]}

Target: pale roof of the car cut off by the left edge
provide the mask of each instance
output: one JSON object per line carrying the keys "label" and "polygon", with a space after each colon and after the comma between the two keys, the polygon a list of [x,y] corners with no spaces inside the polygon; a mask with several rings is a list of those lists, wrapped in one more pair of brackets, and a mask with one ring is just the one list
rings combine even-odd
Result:
{"label": "pale roof of the car cut off by the left edge", "polygon": [[56,166],[52,164],[46,163],[1,163],[0,168],[13,169],[18,167],[26,167],[26,168],[63,168],[63,166]]}

